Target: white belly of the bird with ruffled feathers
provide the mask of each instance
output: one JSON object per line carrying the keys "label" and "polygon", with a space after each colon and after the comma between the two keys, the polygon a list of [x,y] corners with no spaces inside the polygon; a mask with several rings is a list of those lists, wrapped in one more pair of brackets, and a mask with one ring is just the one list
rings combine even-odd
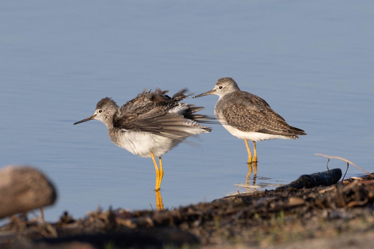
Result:
{"label": "white belly of the bird with ruffled feathers", "polygon": [[151,157],[151,151],[155,157],[160,157],[181,142],[148,132],[120,132],[116,140],[112,141],[140,157]]}

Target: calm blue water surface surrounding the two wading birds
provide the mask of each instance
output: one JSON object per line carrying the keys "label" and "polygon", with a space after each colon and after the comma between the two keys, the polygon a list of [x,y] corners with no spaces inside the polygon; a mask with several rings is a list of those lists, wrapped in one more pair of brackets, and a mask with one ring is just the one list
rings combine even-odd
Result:
{"label": "calm blue water surface surrounding the two wading birds", "polygon": [[[272,189],[326,170],[326,158],[373,167],[372,1],[10,1],[0,4],[1,166],[31,164],[58,189],[55,221],[110,205],[155,208],[154,166],[115,146],[96,103],[143,88],[194,94],[233,77],[307,136],[257,143],[220,125],[163,156],[165,208]],[[213,115],[218,97],[187,99]],[[191,145],[192,144],[192,145]],[[332,160],[329,167],[346,164]],[[361,173],[350,167],[349,176]],[[247,187],[244,187],[247,183]],[[254,186],[253,186],[254,185]]]}

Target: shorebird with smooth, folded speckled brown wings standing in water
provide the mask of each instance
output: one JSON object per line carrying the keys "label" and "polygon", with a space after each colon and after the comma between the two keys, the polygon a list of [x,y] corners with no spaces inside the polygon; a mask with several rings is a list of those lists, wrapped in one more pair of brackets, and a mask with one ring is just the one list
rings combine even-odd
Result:
{"label": "shorebird with smooth, folded speckled brown wings standing in water", "polygon": [[253,141],[253,162],[257,162],[256,141],[266,139],[297,139],[306,135],[303,130],[289,126],[286,121],[262,98],[240,91],[232,78],[221,78],[213,90],[193,98],[216,94],[220,98],[215,104],[214,114],[223,127],[237,138],[244,139],[248,151],[248,164],[252,162],[252,153],[248,141]]}

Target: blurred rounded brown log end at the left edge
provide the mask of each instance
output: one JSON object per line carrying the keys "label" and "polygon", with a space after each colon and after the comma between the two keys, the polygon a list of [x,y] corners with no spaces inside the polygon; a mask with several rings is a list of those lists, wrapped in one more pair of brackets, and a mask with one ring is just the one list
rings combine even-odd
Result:
{"label": "blurred rounded brown log end at the left edge", "polygon": [[0,218],[52,205],[56,191],[47,177],[30,166],[0,170]]}

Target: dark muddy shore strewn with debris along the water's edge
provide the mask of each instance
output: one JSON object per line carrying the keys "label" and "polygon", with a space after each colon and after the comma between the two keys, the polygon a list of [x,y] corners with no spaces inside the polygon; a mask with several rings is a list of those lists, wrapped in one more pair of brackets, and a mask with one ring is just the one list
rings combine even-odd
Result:
{"label": "dark muddy shore strewn with debris along the water's edge", "polygon": [[374,179],[280,187],[164,211],[13,217],[0,248],[373,248]]}

